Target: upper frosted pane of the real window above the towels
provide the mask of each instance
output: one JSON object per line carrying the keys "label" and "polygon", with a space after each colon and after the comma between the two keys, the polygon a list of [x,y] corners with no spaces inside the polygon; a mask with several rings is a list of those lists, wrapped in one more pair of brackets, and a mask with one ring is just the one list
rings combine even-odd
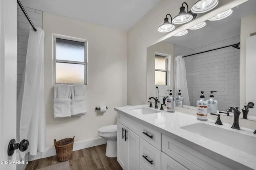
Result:
{"label": "upper frosted pane of the real window above the towels", "polygon": [[56,38],[56,59],[84,62],[84,42]]}

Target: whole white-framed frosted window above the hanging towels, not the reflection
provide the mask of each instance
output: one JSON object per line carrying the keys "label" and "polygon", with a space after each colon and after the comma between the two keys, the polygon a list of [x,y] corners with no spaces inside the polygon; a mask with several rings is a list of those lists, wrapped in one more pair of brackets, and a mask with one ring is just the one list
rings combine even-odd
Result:
{"label": "whole white-framed frosted window above the hanging towels, not the reflection", "polygon": [[87,40],[54,35],[54,83],[87,84]]}

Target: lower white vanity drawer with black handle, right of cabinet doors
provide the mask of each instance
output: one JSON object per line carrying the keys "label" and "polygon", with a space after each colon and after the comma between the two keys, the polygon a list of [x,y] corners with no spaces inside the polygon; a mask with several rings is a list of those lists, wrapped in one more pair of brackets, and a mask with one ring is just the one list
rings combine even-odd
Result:
{"label": "lower white vanity drawer with black handle, right of cabinet doors", "polygon": [[143,170],[161,169],[161,151],[140,138],[140,167]]}

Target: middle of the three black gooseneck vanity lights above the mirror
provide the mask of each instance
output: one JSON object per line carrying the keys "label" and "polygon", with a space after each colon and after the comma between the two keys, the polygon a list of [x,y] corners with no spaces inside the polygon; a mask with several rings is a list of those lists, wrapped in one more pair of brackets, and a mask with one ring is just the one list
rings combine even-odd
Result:
{"label": "middle of the three black gooseneck vanity lights above the mirror", "polygon": [[180,7],[179,14],[175,16],[172,20],[174,24],[184,24],[193,20],[194,18],[192,14],[185,12],[185,7],[183,6],[183,4],[186,4],[188,10],[188,4],[186,2],[183,2],[182,6]]}

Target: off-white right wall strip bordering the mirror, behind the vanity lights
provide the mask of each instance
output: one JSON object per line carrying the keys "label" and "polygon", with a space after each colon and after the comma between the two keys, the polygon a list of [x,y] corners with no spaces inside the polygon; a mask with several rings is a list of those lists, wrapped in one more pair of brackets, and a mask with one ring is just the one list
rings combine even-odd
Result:
{"label": "off-white right wall strip bordering the mirror, behind the vanity lights", "polygon": [[[163,0],[148,12],[139,22],[136,23],[128,32],[128,58],[127,58],[127,104],[146,103],[146,49],[148,46],[156,44],[170,36],[190,28],[212,16],[216,16],[224,10],[228,10],[246,2],[247,0],[225,0],[220,1],[218,8],[203,16],[199,15],[194,21],[184,24],[174,31],[164,34],[157,31],[158,26],[164,22],[166,14],[173,17],[179,12],[182,1]],[[196,0],[188,0],[189,8]]]}

